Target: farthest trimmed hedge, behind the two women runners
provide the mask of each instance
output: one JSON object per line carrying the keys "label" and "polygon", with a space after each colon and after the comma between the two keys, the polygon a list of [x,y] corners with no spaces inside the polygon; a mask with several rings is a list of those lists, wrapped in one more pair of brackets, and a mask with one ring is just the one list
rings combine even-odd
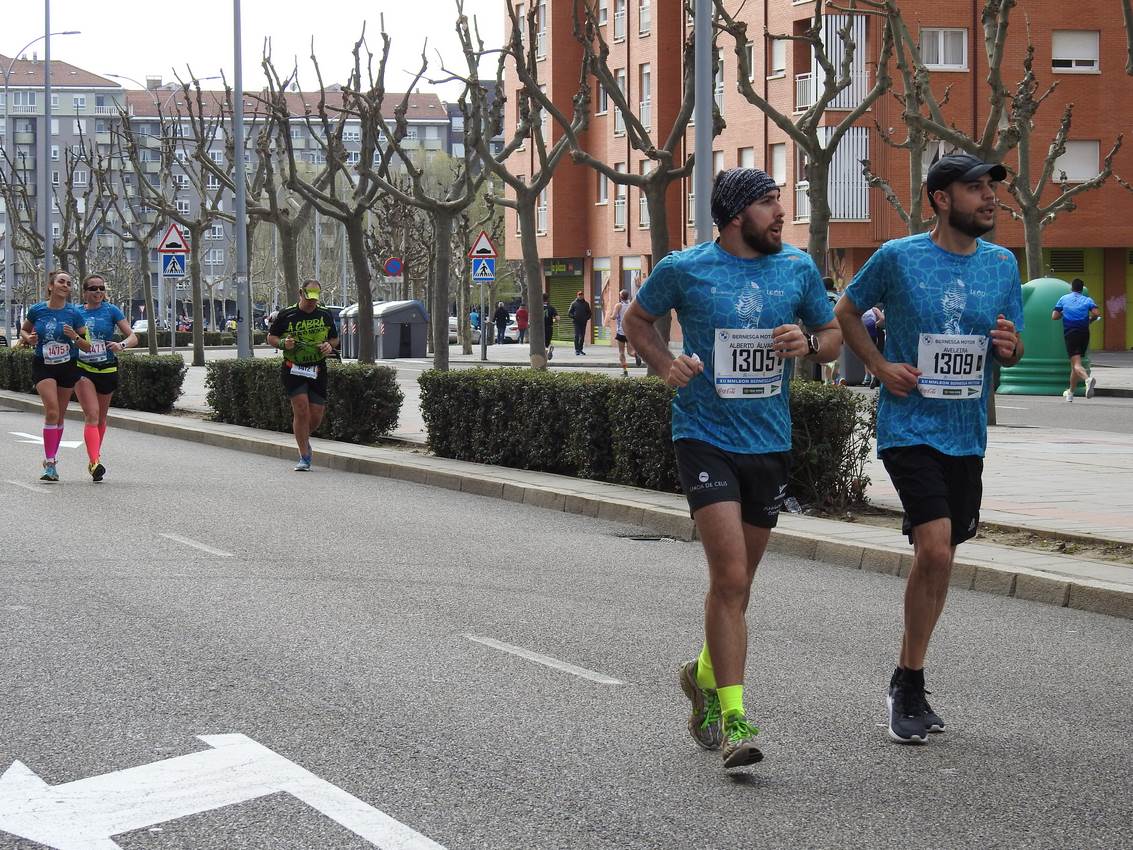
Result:
{"label": "farthest trimmed hedge, behind the two women runners", "polygon": [[[0,388],[34,393],[33,357],[29,348],[0,348]],[[111,405],[151,413],[172,410],[186,372],[180,355],[123,355],[118,358],[118,390]]]}

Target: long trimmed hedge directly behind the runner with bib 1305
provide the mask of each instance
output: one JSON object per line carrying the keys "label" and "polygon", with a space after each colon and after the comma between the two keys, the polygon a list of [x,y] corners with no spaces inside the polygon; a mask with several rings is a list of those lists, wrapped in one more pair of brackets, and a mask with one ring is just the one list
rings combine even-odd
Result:
{"label": "long trimmed hedge directly behind the runner with bib 1305", "polygon": [[[480,368],[429,371],[418,380],[429,445],[441,457],[680,491],[674,391],[659,379]],[[790,495],[825,509],[863,501],[874,400],[794,381],[791,414]]]}

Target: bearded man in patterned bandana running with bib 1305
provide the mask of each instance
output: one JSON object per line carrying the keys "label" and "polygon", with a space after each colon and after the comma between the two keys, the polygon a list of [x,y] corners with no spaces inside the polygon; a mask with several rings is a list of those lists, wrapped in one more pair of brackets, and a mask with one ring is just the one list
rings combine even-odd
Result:
{"label": "bearded man in patterned bandana running with bib 1305", "polygon": [[[743,707],[751,580],[786,495],[793,362],[837,357],[842,334],[813,261],[783,244],[780,188],[757,169],[716,177],[719,239],[664,257],[622,326],[671,386],[681,485],[708,559],[705,643],[680,669],[689,732],[725,767],[763,758]],[[674,358],[654,322],[676,311]],[[811,330],[804,331],[799,318]]]}

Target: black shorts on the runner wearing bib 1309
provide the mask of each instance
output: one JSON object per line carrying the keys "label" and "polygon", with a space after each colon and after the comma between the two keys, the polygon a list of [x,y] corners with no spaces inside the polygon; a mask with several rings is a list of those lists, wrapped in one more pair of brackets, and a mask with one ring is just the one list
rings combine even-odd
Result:
{"label": "black shorts on the runner wearing bib 1309", "polygon": [[901,532],[913,542],[913,528],[934,519],[952,520],[952,545],[976,536],[983,501],[983,458],[954,456],[930,445],[885,449],[881,462],[901,496]]}

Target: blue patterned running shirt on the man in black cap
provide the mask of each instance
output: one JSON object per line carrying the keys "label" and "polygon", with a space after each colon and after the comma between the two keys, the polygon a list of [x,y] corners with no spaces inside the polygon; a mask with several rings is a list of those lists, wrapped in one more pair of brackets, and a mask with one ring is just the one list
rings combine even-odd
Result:
{"label": "blue patterned running shirt on the man in black cap", "polygon": [[[982,239],[977,239],[973,254],[947,252],[929,233],[887,241],[858,271],[845,297],[861,311],[881,305],[885,358],[891,363],[918,366],[927,334],[986,337],[986,358],[990,358],[990,332],[999,314],[1023,330],[1015,255]],[[883,388],[878,451],[931,445],[945,454],[983,457],[991,374],[988,363],[983,392],[972,398],[925,398],[913,390],[901,399]]]}

